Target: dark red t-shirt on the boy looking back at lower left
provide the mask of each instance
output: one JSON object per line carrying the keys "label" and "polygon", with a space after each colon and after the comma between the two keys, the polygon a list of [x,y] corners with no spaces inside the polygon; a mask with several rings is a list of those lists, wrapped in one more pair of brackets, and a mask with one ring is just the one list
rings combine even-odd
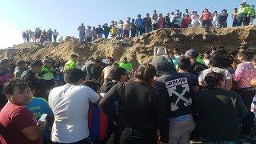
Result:
{"label": "dark red t-shirt on the boy looking back at lower left", "polygon": [[36,141],[30,141],[21,132],[21,130],[37,124],[33,114],[25,107],[6,103],[0,112],[0,122],[2,124],[0,143],[6,141],[11,144],[42,144],[42,137]]}

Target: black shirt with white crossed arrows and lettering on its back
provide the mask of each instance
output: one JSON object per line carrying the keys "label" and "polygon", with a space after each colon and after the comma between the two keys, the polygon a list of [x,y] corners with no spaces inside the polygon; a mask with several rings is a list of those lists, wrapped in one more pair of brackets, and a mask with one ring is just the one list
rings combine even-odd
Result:
{"label": "black shirt with white crossed arrows and lettering on its back", "polygon": [[[170,105],[169,117],[177,118],[187,114],[192,113],[192,96],[193,93],[190,90],[192,85],[186,76],[173,73],[173,74],[164,74],[156,79],[158,82],[162,82],[165,86],[165,96],[168,98]],[[161,87],[159,83],[156,82],[156,87]]]}

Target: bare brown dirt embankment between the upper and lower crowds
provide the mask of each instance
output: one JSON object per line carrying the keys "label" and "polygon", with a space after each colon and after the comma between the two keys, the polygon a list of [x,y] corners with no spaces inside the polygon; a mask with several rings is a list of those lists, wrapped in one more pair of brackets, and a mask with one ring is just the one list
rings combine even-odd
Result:
{"label": "bare brown dirt embankment between the upper and lower crowds", "polygon": [[256,47],[256,26],[240,26],[226,29],[187,28],[161,29],[138,38],[97,39],[92,43],[81,44],[78,38],[67,37],[62,43],[51,43],[40,46],[36,43],[25,43],[12,48],[0,50],[0,58],[12,56],[15,60],[36,59],[50,56],[53,58],[70,58],[71,54],[78,54],[86,59],[96,56],[111,56],[116,60],[126,56],[135,65],[150,62],[153,58],[154,46],[166,46],[168,50],[178,48],[181,51],[195,48],[210,50],[214,46],[225,46],[230,50],[237,50],[246,43]]}

